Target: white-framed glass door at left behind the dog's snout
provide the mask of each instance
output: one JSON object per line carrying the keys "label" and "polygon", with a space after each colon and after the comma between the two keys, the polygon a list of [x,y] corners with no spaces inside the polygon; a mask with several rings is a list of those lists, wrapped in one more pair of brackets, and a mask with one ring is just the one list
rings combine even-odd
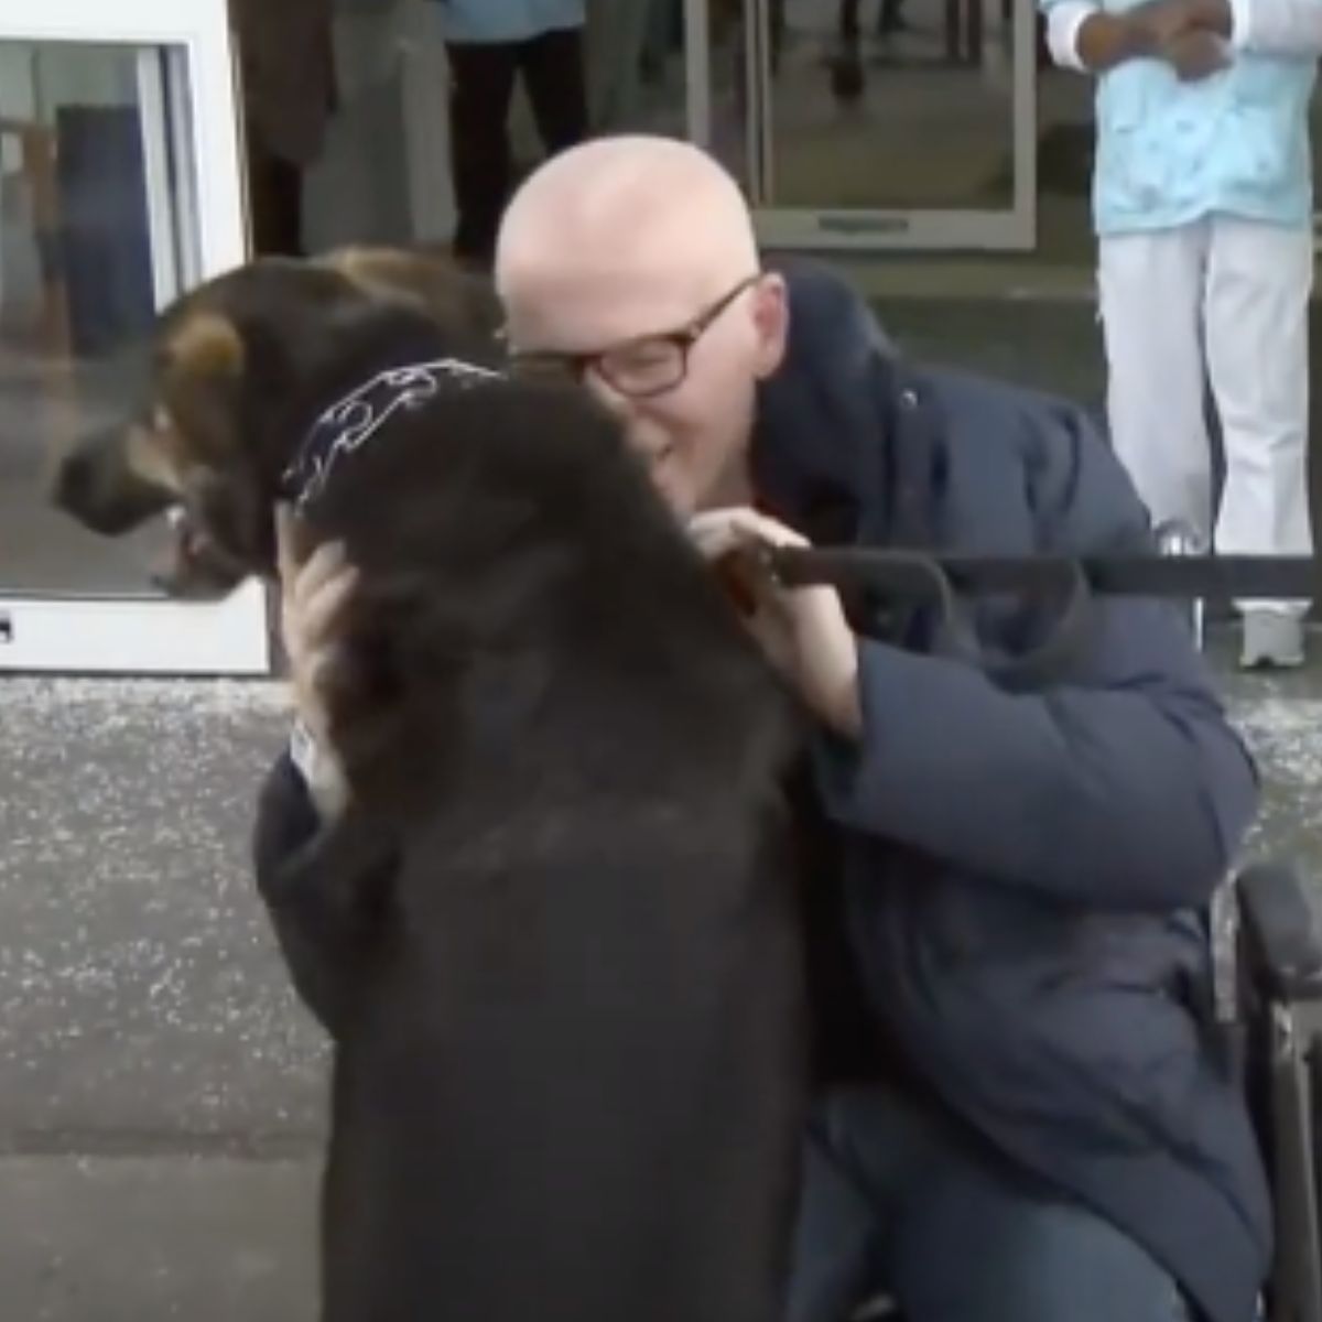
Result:
{"label": "white-framed glass door at left behind the dog's snout", "polygon": [[268,669],[260,584],[171,602],[164,526],[107,541],[46,500],[156,309],[245,255],[226,0],[0,0],[0,669]]}

